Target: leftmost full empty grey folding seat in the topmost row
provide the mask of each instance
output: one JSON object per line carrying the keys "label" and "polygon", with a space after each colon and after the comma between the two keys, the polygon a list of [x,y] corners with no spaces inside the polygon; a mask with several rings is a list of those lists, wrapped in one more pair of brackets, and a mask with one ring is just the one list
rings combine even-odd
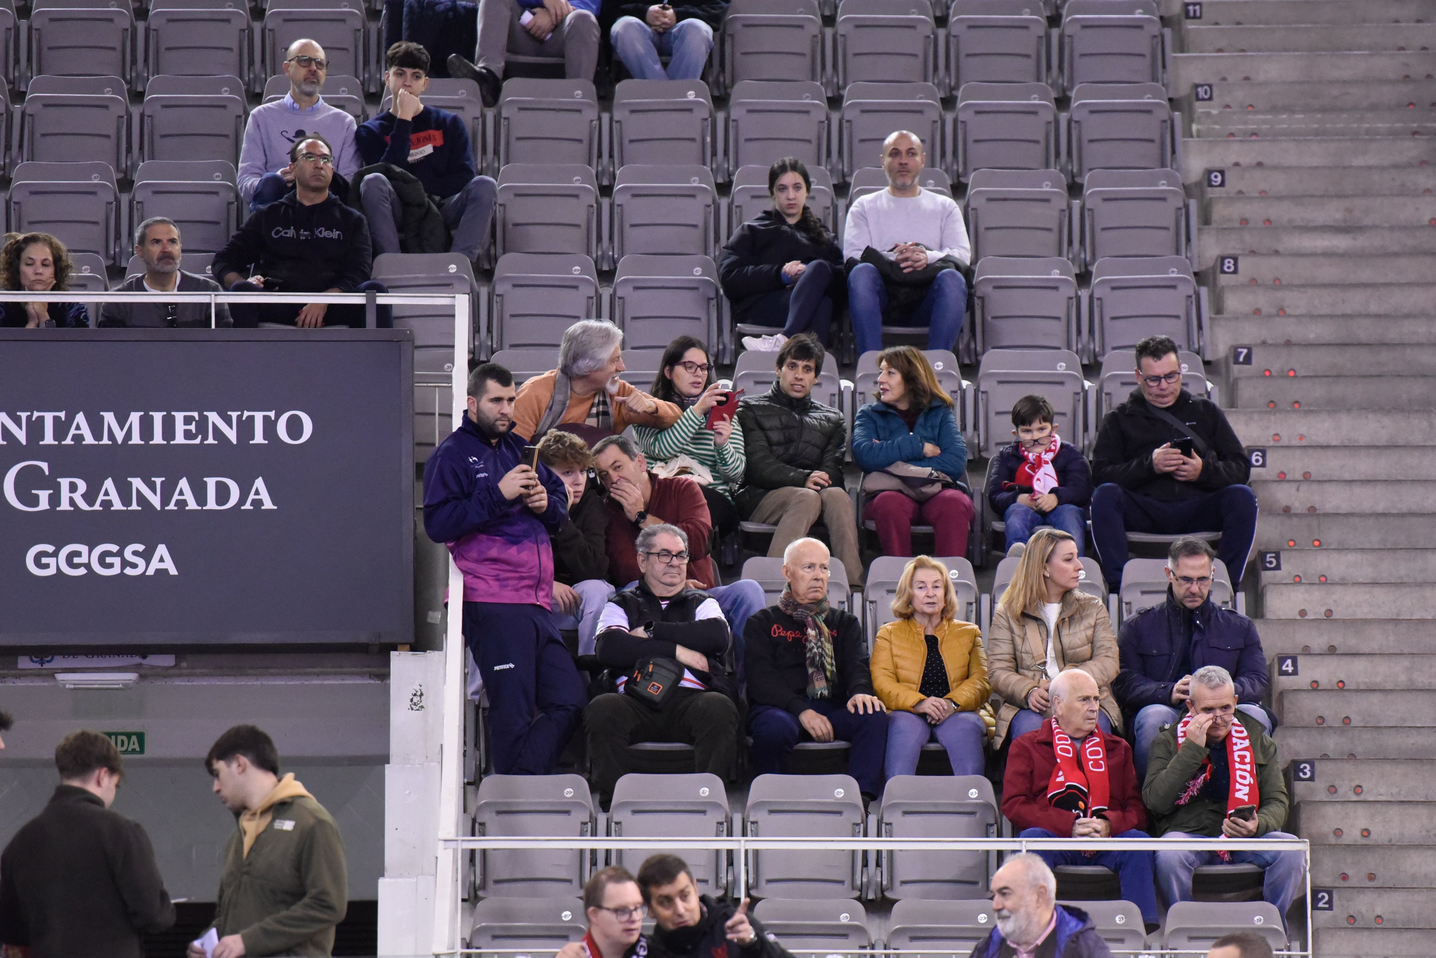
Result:
{"label": "leftmost full empty grey folding seat in the topmost row", "polygon": [[135,17],[128,3],[36,0],[30,7],[30,76],[134,77]]}

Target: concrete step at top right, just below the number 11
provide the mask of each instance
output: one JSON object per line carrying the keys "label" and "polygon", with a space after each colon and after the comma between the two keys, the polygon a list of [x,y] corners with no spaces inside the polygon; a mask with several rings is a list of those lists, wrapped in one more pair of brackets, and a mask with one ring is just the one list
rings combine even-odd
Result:
{"label": "concrete step at top right, just below the number 11", "polygon": [[[1203,11],[1205,13],[1205,11]],[[1282,26],[1193,26],[1182,29],[1185,53],[1311,53],[1344,50],[1430,50],[1436,23],[1350,23]]]}

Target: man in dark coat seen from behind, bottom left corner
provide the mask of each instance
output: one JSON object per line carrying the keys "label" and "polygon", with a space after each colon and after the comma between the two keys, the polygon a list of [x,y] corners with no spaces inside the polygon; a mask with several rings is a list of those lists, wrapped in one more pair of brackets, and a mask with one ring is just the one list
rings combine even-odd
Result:
{"label": "man in dark coat seen from behind, bottom left corner", "polygon": [[55,764],[49,805],[0,855],[0,945],[30,958],[141,958],[141,935],[174,925],[175,906],[145,829],[109,810],[119,751],[98,731],[75,731]]}

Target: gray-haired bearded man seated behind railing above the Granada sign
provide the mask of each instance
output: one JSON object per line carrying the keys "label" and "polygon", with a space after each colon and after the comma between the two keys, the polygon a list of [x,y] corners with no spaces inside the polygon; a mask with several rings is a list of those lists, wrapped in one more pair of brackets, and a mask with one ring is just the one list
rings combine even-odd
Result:
{"label": "gray-haired bearded man seated behind railing above the Granada sign", "polygon": [[[220,284],[208,277],[180,268],[184,247],[180,227],[174,219],[151,217],[135,228],[135,255],[145,271],[125,277],[116,293],[221,293]],[[208,303],[106,303],[101,308],[101,326],[210,328]],[[230,327],[230,307],[217,303],[213,326]]]}

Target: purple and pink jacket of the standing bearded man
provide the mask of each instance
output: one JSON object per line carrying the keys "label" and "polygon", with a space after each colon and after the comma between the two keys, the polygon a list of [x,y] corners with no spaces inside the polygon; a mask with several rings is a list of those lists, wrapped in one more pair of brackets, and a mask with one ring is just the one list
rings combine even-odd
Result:
{"label": "purple and pink jacket of the standing bearded man", "polygon": [[465,602],[504,602],[553,608],[550,532],[569,518],[569,493],[549,466],[538,480],[549,508],[534,515],[521,498],[498,490],[528,440],[513,432],[484,439],[468,416],[424,465],[424,531],[448,546],[464,574]]}

